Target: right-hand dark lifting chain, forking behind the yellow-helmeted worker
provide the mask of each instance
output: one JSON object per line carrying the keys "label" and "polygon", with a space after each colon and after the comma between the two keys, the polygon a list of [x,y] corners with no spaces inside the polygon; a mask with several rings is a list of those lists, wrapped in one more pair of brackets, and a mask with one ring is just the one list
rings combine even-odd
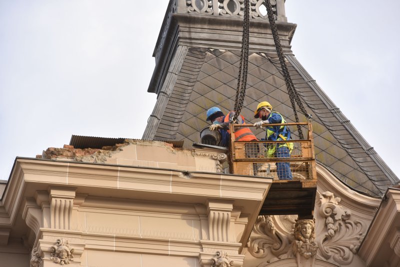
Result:
{"label": "right-hand dark lifting chain, forking behind the yellow-helmeted worker", "polygon": [[[273,17],[272,6],[270,3],[270,0],[264,0],[264,4],[265,4],[265,7],[266,7],[266,10],[268,13],[268,20],[269,20],[269,24],[271,25],[273,42],[275,43],[276,53],[279,57],[280,65],[282,67],[282,74],[284,77],[284,81],[286,83],[287,92],[289,94],[290,103],[291,103],[291,107],[293,108],[293,111],[294,111],[294,117],[296,119],[296,122],[299,122],[299,120],[298,120],[296,106],[294,104],[294,101],[297,103],[298,107],[300,108],[301,112],[305,115],[305,117],[307,119],[311,119],[311,115],[307,113],[303,104],[301,103],[300,97],[298,96],[298,93],[297,93],[296,89],[294,88],[294,84],[290,78],[289,70],[287,69],[287,65],[285,62],[284,55],[283,55],[282,47],[280,46],[278,30],[276,28],[275,18]],[[301,131],[300,125],[297,125],[297,130],[298,130],[298,137],[301,140],[303,140],[304,136]]]}

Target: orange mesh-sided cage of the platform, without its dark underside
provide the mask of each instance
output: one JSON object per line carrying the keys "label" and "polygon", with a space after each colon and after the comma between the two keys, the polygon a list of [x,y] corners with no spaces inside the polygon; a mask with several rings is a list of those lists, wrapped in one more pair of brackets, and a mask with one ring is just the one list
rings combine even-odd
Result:
{"label": "orange mesh-sided cage of the platform, without its dark underside", "polygon": [[[305,140],[236,141],[232,138],[231,171],[235,174],[269,177],[274,180],[316,179],[311,125],[300,124],[309,127],[306,129],[308,137]],[[252,127],[245,126],[250,129]],[[238,129],[231,127],[233,130],[234,128]]]}

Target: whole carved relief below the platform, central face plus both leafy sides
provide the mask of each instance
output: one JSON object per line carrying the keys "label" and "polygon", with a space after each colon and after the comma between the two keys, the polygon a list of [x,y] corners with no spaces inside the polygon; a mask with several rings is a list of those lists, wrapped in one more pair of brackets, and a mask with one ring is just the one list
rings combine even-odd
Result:
{"label": "whole carved relief below the platform, central face plus both leafy sides", "polygon": [[258,216],[247,243],[249,253],[265,260],[259,267],[295,257],[297,252],[304,258],[351,265],[364,238],[366,222],[354,219],[340,201],[329,191],[319,193],[315,202],[315,224],[312,220],[295,222],[292,215]]}

